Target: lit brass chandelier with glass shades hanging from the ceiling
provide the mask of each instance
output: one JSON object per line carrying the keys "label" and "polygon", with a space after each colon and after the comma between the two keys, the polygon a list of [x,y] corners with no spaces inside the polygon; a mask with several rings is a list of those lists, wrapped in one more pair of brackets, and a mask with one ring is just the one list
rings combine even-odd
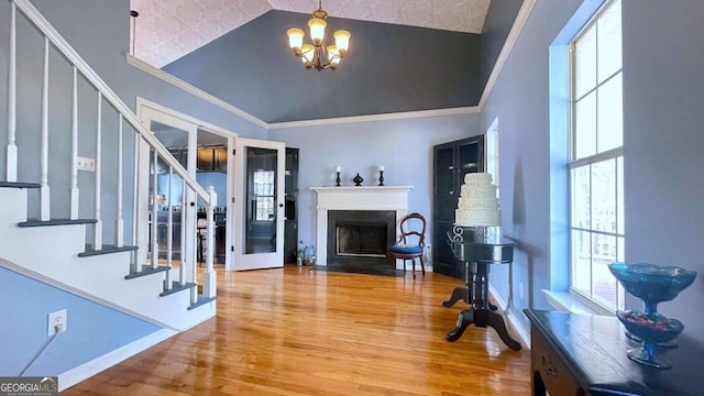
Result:
{"label": "lit brass chandelier with glass shades hanging from the ceiling", "polygon": [[350,45],[350,32],[339,30],[332,34],[336,45],[326,46],[323,37],[328,25],[326,22],[327,16],[328,13],[322,9],[322,0],[320,0],[318,10],[312,12],[312,18],[308,21],[312,44],[304,44],[304,31],[298,28],[292,28],[286,31],[290,48],[296,56],[302,59],[306,69],[315,68],[320,72],[330,68],[334,70],[340,66],[340,61],[344,57],[344,53]]}

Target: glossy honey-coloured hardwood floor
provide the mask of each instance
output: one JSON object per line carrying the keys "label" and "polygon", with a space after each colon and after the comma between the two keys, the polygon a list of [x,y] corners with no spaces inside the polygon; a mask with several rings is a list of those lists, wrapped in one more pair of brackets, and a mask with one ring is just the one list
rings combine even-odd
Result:
{"label": "glossy honey-coloured hardwood floor", "polygon": [[[62,395],[529,395],[491,328],[444,341],[461,283],[310,267],[218,270],[218,315]],[[512,331],[512,334],[516,334]]]}

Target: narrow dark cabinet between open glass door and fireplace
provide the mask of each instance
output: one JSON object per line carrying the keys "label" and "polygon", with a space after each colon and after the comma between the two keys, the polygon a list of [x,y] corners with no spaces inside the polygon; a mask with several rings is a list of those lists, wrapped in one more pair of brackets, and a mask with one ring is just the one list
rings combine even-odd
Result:
{"label": "narrow dark cabinet between open glass door and fireplace", "polygon": [[286,147],[284,264],[295,264],[298,253],[298,148]]}

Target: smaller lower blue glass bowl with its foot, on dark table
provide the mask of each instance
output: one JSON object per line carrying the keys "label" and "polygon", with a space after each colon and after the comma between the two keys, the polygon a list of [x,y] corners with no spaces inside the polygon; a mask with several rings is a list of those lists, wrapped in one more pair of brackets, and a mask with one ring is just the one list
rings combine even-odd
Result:
{"label": "smaller lower blue glass bowl with its foot, on dark table", "polygon": [[640,348],[626,353],[628,359],[656,369],[671,369],[672,365],[659,355],[659,343],[674,340],[684,329],[676,319],[668,319],[658,312],[642,312],[637,309],[616,311],[616,317],[626,330],[638,337]]}

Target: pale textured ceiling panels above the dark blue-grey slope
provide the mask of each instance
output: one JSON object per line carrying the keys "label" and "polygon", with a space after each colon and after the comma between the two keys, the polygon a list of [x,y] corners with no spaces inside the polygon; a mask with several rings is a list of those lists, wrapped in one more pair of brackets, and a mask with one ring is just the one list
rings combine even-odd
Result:
{"label": "pale textured ceiling panels above the dark blue-grey slope", "polygon": [[[326,0],[322,8],[333,18],[482,33],[490,1]],[[270,10],[311,13],[317,8],[318,0],[131,0],[140,13],[133,54],[163,67]]]}

